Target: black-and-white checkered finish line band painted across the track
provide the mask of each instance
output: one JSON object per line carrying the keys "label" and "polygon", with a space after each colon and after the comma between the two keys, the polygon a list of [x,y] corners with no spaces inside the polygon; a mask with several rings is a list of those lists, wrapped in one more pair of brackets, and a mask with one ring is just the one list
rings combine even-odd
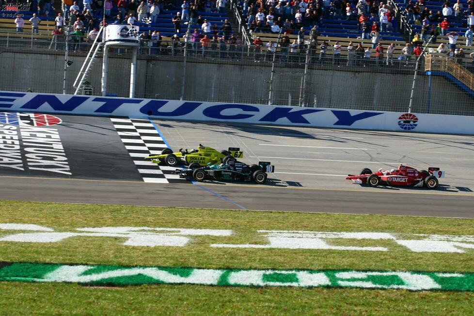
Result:
{"label": "black-and-white checkered finish line band painted across the track", "polygon": [[171,174],[176,167],[158,166],[144,158],[150,154],[161,154],[166,147],[158,130],[149,120],[111,118],[126,150],[137,166],[144,182],[182,183],[179,175]]}

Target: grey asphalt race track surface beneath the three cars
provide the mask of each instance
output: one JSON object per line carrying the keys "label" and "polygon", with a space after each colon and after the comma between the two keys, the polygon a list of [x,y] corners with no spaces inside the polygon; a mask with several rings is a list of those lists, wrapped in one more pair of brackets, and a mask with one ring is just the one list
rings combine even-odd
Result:
{"label": "grey asphalt race track surface beneath the three cars", "polygon": [[[38,129],[0,122],[0,134],[5,126],[16,126],[21,147],[17,154],[10,152],[10,166],[0,162],[1,199],[474,218],[471,136],[58,117],[61,124],[40,127],[59,135],[55,142],[61,145],[56,143],[57,155],[51,156],[42,151],[52,150],[51,142],[41,143],[45,136]],[[169,168],[144,164],[141,138],[152,140],[150,151],[165,144],[174,150],[199,143],[219,150],[240,147],[243,162],[271,161],[275,173],[263,186],[193,184],[176,179]],[[446,177],[438,190],[370,188],[344,179],[364,167],[385,170],[399,163],[440,167]]]}

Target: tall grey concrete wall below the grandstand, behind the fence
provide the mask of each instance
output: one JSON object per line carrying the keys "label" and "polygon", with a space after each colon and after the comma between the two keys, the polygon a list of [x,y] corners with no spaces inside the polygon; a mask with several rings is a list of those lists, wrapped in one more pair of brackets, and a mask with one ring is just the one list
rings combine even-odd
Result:
{"label": "tall grey concrete wall below the grandstand, behind the fence", "polygon": [[[0,90],[62,93],[63,54],[1,52]],[[70,56],[66,93],[73,93],[83,56]],[[100,95],[101,61],[96,60],[89,81]],[[267,64],[195,63],[158,60],[138,61],[137,97],[267,104],[270,66]],[[272,104],[297,105],[300,98],[301,68],[278,65],[273,78]],[[412,71],[405,74],[345,70],[309,70],[304,99],[310,106],[342,109],[407,111],[410,101]],[[128,96],[129,59],[110,59],[109,93]],[[474,99],[442,77],[431,78],[420,72],[415,87],[413,112],[474,115]]]}

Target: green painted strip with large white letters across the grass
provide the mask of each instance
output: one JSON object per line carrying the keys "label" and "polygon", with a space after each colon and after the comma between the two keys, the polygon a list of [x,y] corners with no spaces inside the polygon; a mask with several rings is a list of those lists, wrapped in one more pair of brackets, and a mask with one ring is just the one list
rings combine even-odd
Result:
{"label": "green painted strip with large white letters across the grass", "polygon": [[0,262],[0,281],[61,282],[109,286],[200,284],[474,291],[474,273],[193,269],[5,262]]}

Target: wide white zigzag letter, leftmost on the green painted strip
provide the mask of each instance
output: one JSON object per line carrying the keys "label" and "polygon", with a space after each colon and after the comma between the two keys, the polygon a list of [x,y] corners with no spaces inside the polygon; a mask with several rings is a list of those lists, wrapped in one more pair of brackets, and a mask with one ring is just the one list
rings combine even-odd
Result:
{"label": "wide white zigzag letter, leftmost on the green painted strip", "polygon": [[189,276],[179,276],[158,268],[129,268],[117,269],[106,272],[98,272],[82,275],[84,272],[95,269],[88,266],[63,266],[44,277],[45,282],[73,282],[90,283],[110,278],[146,275],[164,283],[186,283],[186,284],[217,284],[223,271],[214,269],[194,269]]}

